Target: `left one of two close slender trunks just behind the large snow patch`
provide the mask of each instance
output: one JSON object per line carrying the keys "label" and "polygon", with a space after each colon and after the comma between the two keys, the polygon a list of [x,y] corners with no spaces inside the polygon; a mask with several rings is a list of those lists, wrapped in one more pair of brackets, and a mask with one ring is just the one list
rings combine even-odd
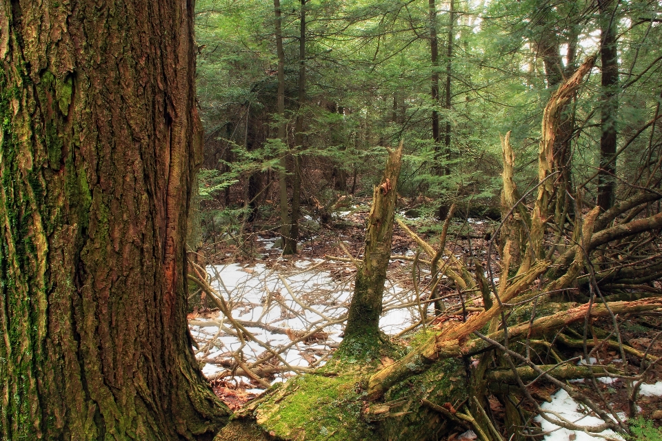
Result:
{"label": "left one of two close slender trunks just behind the large snow patch", "polygon": [[[287,145],[287,133],[285,131],[285,51],[283,50],[283,31],[281,25],[281,2],[274,0],[274,13],[276,14],[276,53],[278,57],[278,138]],[[281,241],[283,252],[290,237],[290,213],[288,210],[288,161],[287,152],[283,149],[279,161],[281,170],[278,173],[279,194],[281,202]]]}

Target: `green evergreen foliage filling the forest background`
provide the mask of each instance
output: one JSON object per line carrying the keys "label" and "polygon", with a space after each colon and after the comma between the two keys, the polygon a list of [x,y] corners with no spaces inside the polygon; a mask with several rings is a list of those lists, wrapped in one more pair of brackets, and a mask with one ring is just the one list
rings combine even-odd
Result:
{"label": "green evergreen foliage filling the forest background", "polygon": [[[393,147],[403,141],[407,156],[399,182],[401,195],[422,194],[439,202],[490,205],[494,210],[501,173],[499,134],[509,130],[516,154],[516,184],[521,193],[534,185],[541,115],[556,88],[553,76],[567,77],[596,52],[599,20],[595,8],[587,1],[554,5],[537,0],[460,2],[449,59],[448,3],[437,3],[440,57],[439,66],[433,68],[428,3],[306,2],[308,80],[306,104],[299,107],[299,41],[295,36],[301,2],[281,1],[286,143],[290,149],[294,147],[294,121],[303,114],[304,145],[290,153],[299,154],[308,170],[317,170],[315,176],[321,174],[314,182],[318,188],[330,185],[325,173],[335,170],[357,174],[361,194],[370,194],[372,184],[381,177],[383,153],[377,146]],[[659,134],[651,136],[650,129],[640,129],[655,117],[660,103],[654,79],[662,63],[656,54],[662,26],[656,24],[659,6],[654,3],[619,5],[615,19],[622,74],[619,111],[613,118],[619,127],[619,145],[628,148],[621,154],[617,170],[624,181],[645,184],[657,157],[649,153],[658,147]],[[268,161],[285,152],[283,145],[269,141],[275,137],[278,122],[274,116],[273,4],[266,0],[203,0],[196,6],[197,39],[202,47],[198,86],[205,129],[218,132],[223,141],[217,146],[227,149],[233,145],[236,154],[224,158],[225,162],[214,160],[207,165],[224,167],[224,173],[231,168],[235,174],[225,177],[228,182],[241,181],[256,170],[273,169],[274,163]],[[543,48],[541,42],[549,43],[551,49]],[[571,45],[576,50],[569,59]],[[553,69],[545,64],[549,53],[544,50],[556,53]],[[445,103],[445,96],[433,101],[432,72],[439,73],[443,89],[448,69],[451,101]],[[565,111],[572,126],[572,185],[592,179],[599,163],[602,92],[598,66]],[[432,141],[433,111],[439,114],[441,145]],[[447,123],[450,145],[443,136]],[[658,123],[656,133],[659,130]],[[208,152],[221,147],[208,147]],[[594,196],[594,181],[583,185],[589,198]]]}

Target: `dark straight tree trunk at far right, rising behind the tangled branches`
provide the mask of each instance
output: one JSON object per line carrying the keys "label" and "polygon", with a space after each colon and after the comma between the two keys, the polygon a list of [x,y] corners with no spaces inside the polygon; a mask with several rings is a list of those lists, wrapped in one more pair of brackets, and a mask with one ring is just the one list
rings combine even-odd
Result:
{"label": "dark straight tree trunk at far right, rising behind the tangled branches", "polygon": [[602,135],[600,137],[600,172],[598,174],[598,205],[607,210],[614,205],[616,181],[616,110],[618,109],[619,61],[616,52],[616,8],[614,0],[599,0],[602,61],[601,108]]}

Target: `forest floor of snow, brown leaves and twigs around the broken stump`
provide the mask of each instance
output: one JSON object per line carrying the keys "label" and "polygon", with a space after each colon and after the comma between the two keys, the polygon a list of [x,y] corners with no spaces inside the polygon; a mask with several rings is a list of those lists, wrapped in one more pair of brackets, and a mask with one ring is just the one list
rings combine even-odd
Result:
{"label": "forest floor of snow, brown leaves and twigs around the broken stump", "polygon": [[[303,241],[296,256],[281,254],[279,235],[275,229],[265,226],[268,223],[263,223],[262,227],[256,224],[254,231],[245,233],[242,240],[206,238],[210,284],[228,302],[234,320],[250,334],[235,332],[209,299],[192,302],[197,304],[189,314],[191,333],[198,343],[197,358],[214,391],[231,409],[239,409],[257,397],[266,383],[285,381],[323,365],[337,348],[342,340],[341,320],[349,305],[356,274],[352,259],[360,261],[362,258],[369,203],[370,198],[348,199],[331,214],[326,225],[305,215]],[[418,214],[416,209],[404,208],[400,214],[419,236],[434,245],[440,228],[430,227],[430,224],[441,227],[441,223],[431,222],[429,218],[413,218]],[[496,223],[489,219],[454,220],[446,247],[458,258],[479,258],[485,266],[486,240],[495,227]],[[425,293],[432,275],[428,267],[417,265],[418,283],[414,286],[412,260],[417,255],[417,245],[398,226],[394,228],[392,255],[402,258],[390,262],[380,327],[389,338],[406,345],[412,335],[408,332],[410,325],[419,322],[421,310],[430,305],[425,303]],[[423,259],[423,255],[420,258]],[[498,260],[494,256],[491,260],[494,274],[499,274]],[[455,311],[439,320],[461,321],[481,310],[480,298],[460,298],[451,291],[442,291],[441,295],[448,296],[446,306]],[[432,312],[429,307],[428,314]],[[592,325],[599,327],[601,324],[596,321]],[[608,328],[607,323],[605,328]],[[662,356],[662,340],[655,340],[662,331],[661,316],[628,318],[623,321],[621,330],[628,345],[640,351],[650,347],[652,355]],[[574,350],[565,355],[570,358],[581,354]],[[591,359],[590,363],[622,362],[616,351],[601,351],[598,358]],[[390,362],[392,360],[383,360],[385,364]],[[628,362],[636,365],[639,360],[628,358]],[[262,382],[247,375],[243,367],[257,374]],[[650,370],[637,402],[641,415],[654,420],[656,425],[662,422],[661,380],[662,367],[658,365]],[[588,382],[590,380],[574,383],[594,402],[602,402],[623,418],[628,415],[627,388],[623,380],[599,378],[595,384]],[[556,391],[550,384],[539,384],[536,393],[548,400],[543,408],[548,406],[570,420],[579,420],[578,424],[595,424],[598,420],[582,413],[567,393]],[[505,411],[501,403],[490,400],[490,407],[494,416],[501,419],[499,416]],[[545,431],[553,430],[545,436],[548,441],[594,439],[580,431],[573,433],[550,427],[550,423],[540,417],[536,418],[536,423]],[[463,438],[474,436],[465,433]]]}

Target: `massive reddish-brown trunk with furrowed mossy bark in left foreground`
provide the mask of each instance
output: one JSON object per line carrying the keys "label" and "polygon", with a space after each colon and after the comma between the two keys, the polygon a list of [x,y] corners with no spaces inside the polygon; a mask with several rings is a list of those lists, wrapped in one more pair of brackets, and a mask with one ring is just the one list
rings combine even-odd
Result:
{"label": "massive reddish-brown trunk with furrowed mossy bark in left foreground", "polygon": [[0,6],[0,438],[204,440],[192,2]]}

